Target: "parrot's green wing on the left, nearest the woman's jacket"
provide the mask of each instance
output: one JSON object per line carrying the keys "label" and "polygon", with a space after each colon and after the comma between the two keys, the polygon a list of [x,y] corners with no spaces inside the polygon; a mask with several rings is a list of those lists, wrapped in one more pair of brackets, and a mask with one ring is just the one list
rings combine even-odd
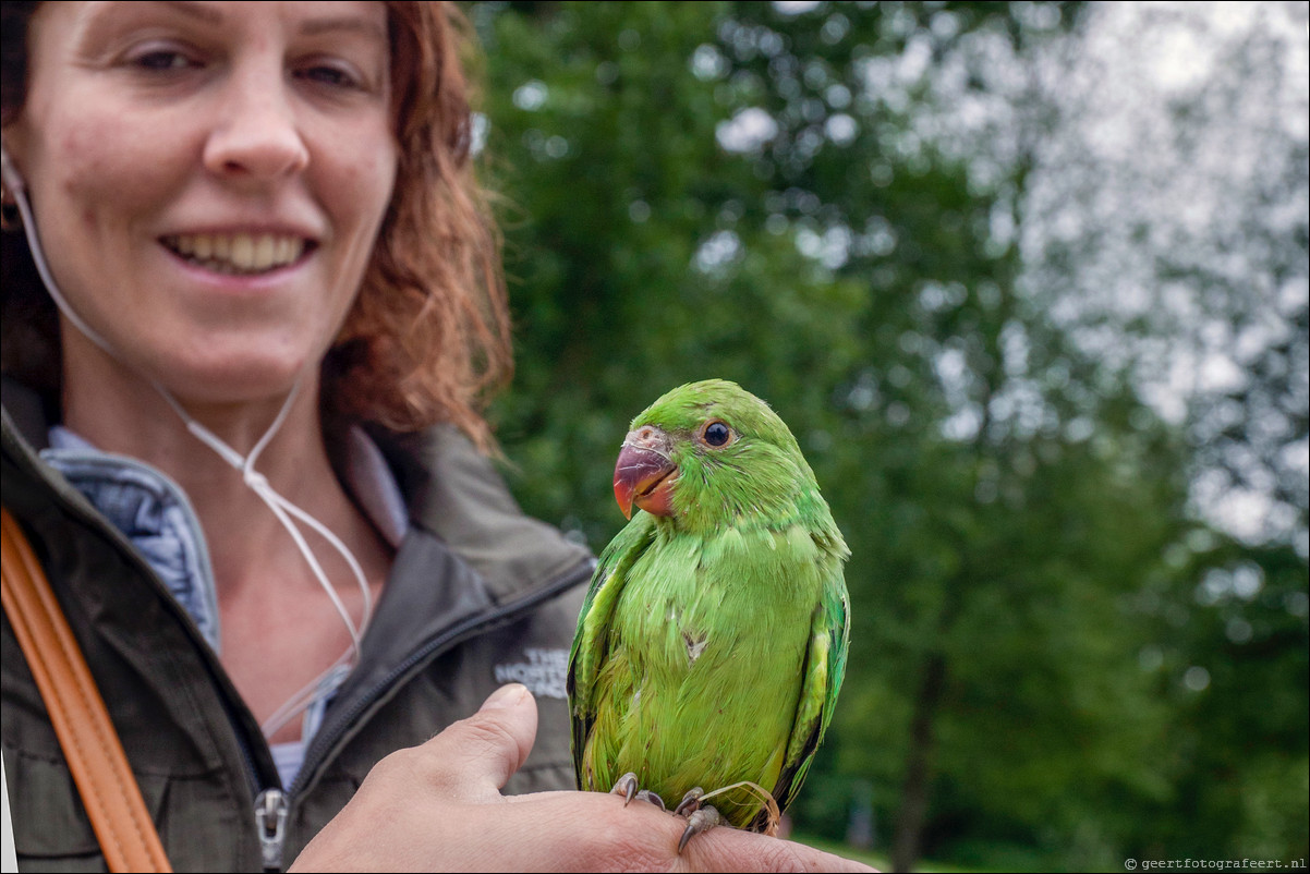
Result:
{"label": "parrot's green wing on the left, nearest the woman's jacket", "polygon": [[[579,789],[596,789],[583,785],[583,753],[596,721],[596,677],[609,653],[609,629],[614,620],[614,607],[627,584],[627,571],[654,537],[655,518],[641,512],[609,541],[600,553],[600,561],[591,577],[591,587],[578,615],[578,630],[574,634],[572,650],[569,653],[566,689],[572,715],[574,774]],[[608,789],[608,786],[600,788],[601,791]]]}

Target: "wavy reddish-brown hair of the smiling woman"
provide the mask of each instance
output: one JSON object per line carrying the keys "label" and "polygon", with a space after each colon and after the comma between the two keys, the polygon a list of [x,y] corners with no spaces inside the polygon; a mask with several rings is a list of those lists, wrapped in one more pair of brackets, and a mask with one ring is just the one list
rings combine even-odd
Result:
{"label": "wavy reddish-brown hair of the smiling woman", "polygon": [[[26,98],[28,22],[4,0],[0,121]],[[396,187],[341,334],[324,359],[325,414],[415,431],[458,426],[485,451],[486,401],[512,371],[500,237],[473,164],[472,30],[453,3],[388,1]],[[59,388],[59,321],[17,221],[0,240],[5,373]]]}

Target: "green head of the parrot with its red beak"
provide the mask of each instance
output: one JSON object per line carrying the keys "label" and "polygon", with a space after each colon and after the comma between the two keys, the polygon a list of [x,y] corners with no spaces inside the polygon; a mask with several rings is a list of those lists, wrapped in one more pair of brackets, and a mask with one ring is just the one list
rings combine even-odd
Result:
{"label": "green head of the parrot with its red beak", "polygon": [[778,518],[817,498],[814,472],[768,404],[735,383],[673,389],[635,419],[614,465],[614,498],[677,524]]}

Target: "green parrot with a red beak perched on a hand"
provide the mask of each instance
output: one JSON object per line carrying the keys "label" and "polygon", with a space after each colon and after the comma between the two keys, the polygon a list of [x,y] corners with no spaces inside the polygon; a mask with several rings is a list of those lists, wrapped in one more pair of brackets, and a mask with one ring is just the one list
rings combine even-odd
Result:
{"label": "green parrot with a red beak perched on a hand", "polygon": [[630,522],[569,656],[578,786],[681,798],[679,852],[719,823],[772,831],[758,791],[717,790],[785,810],[837,704],[850,552],[814,472],[768,404],[705,380],[633,419],[614,497]]}

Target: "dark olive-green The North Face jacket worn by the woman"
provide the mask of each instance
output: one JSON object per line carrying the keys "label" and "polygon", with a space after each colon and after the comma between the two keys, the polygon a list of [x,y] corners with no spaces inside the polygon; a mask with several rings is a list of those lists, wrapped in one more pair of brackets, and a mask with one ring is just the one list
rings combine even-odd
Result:
{"label": "dark olive-green The North Face jacket worn by the woman", "polygon": [[[372,435],[405,493],[410,532],[359,666],[295,785],[282,788],[254,717],[190,616],[39,460],[48,425],[39,398],[5,380],[3,405],[0,497],[83,646],[176,870],[261,870],[254,807],[267,789],[286,790],[275,865],[290,865],[377,760],[474,713],[504,681],[527,683],[540,708],[532,756],[507,791],[574,786],[563,674],[591,556],[524,516],[462,436]],[[8,617],[0,645],[0,740],[20,870],[105,870]]]}

